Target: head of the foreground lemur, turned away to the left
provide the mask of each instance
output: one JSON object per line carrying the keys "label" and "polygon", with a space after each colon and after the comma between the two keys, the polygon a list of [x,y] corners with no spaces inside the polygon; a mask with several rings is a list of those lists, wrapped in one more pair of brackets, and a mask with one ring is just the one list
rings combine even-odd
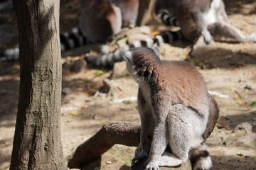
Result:
{"label": "head of the foreground lemur, turned away to the left", "polygon": [[159,47],[134,47],[131,50],[120,49],[122,57],[127,62],[127,71],[135,79],[151,74],[159,59]]}

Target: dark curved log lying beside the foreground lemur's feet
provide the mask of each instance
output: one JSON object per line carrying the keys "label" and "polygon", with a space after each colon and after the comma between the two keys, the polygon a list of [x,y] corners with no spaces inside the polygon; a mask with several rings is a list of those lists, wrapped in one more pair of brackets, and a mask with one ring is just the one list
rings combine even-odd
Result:
{"label": "dark curved log lying beside the foreground lemur's feet", "polygon": [[[69,168],[87,169],[86,165],[107,152],[115,144],[137,147],[139,145],[140,126],[132,125],[129,122],[111,122],[104,125],[89,140],[82,143],[76,150],[73,158],[68,162]],[[139,162],[132,170],[145,169],[144,162]],[[161,170],[191,170],[191,163],[188,160],[177,168],[161,167]]]}

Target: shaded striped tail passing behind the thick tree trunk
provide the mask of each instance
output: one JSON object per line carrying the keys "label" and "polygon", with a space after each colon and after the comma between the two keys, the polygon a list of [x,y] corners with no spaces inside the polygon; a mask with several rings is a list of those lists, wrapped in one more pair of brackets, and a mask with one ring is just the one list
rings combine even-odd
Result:
{"label": "shaded striped tail passing behind the thick tree trunk", "polygon": [[[61,51],[70,50],[75,47],[90,44],[90,41],[82,35],[79,28],[73,28],[70,32],[60,34]],[[0,52],[0,62],[15,62],[19,60],[19,49],[9,48]]]}

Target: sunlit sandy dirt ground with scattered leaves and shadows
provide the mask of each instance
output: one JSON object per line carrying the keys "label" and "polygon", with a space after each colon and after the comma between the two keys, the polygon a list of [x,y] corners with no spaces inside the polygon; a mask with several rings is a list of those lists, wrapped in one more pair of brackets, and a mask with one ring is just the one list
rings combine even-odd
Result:
{"label": "sunlit sandy dirt ground with scattered leaves and shadows", "polygon": [[[79,13],[86,5],[87,1],[61,1],[60,30],[76,26]],[[245,34],[256,31],[254,0],[225,0],[225,5],[230,23]],[[11,12],[0,13],[1,24],[16,26],[14,13]],[[15,46],[15,41],[7,44]],[[252,106],[252,103],[256,101],[256,43],[212,42],[209,46],[199,45],[193,51],[193,56],[188,56],[190,47],[181,46],[164,45],[161,47],[161,57],[195,64],[206,80],[210,94],[215,96],[220,107],[220,118],[206,141],[215,169],[255,170],[256,106]],[[76,52],[71,50],[63,56],[70,55],[75,60],[79,57]],[[122,69],[124,63],[116,67]],[[110,80],[110,87],[106,87],[105,79]],[[9,169],[10,165],[18,86],[18,63],[0,63],[0,169],[3,170]],[[139,124],[137,88],[132,77],[125,72],[84,69],[73,73],[63,67],[61,132],[66,162],[78,145],[110,120]],[[129,169],[134,149],[114,145],[103,154],[100,164],[92,169]]]}

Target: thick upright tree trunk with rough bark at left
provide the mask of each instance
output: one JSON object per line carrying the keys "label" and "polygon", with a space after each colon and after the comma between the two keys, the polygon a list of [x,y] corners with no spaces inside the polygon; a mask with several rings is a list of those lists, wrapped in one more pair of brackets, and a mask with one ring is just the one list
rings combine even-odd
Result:
{"label": "thick upright tree trunk with rough bark at left", "polygon": [[10,169],[65,169],[60,140],[60,1],[13,3],[21,81]]}

